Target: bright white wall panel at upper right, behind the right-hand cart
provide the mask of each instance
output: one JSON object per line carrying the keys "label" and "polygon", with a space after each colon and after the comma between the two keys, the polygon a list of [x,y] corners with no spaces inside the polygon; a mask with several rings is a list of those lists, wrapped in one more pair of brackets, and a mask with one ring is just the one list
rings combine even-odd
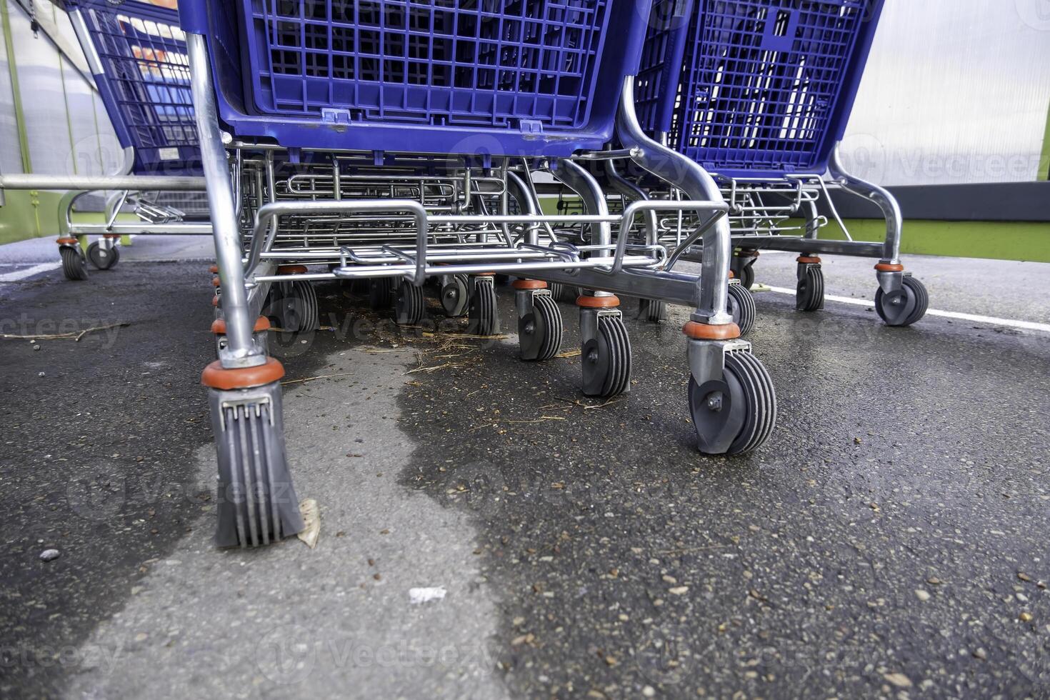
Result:
{"label": "bright white wall panel at upper right, behind the right-hand cart", "polygon": [[1036,178],[1050,0],[886,0],[843,142],[884,185]]}

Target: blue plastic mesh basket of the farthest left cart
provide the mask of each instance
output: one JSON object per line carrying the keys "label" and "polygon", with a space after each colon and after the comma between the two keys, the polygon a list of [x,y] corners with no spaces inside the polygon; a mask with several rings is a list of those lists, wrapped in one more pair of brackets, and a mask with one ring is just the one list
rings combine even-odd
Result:
{"label": "blue plastic mesh basket of the farthest left cart", "polygon": [[135,171],[196,171],[189,58],[177,13],[134,0],[78,5],[102,64],[100,94],[121,143],[135,149]]}

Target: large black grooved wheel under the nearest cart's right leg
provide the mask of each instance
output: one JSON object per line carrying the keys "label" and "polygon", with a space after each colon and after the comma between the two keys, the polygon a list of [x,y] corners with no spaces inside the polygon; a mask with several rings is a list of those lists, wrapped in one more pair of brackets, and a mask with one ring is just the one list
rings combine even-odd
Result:
{"label": "large black grooved wheel under the nearest cart's right leg", "polygon": [[690,377],[689,410],[701,452],[750,452],[769,440],[777,422],[773,380],[749,351],[727,353],[722,379],[697,385]]}

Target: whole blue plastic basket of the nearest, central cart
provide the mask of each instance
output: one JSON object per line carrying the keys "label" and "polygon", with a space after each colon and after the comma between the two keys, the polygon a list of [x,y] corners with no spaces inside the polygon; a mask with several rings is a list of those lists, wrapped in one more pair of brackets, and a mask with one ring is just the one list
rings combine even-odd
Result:
{"label": "whole blue plastic basket of the nearest, central cart", "polygon": [[184,0],[219,118],[286,147],[567,155],[612,135],[649,0]]}

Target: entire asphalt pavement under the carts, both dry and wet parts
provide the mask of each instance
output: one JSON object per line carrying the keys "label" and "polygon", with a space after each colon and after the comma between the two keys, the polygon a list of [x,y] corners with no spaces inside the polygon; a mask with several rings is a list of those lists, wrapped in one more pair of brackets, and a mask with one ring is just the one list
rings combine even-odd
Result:
{"label": "entire asphalt pavement under the carts, both dry and wet parts", "polygon": [[[54,255],[19,246],[0,280]],[[1050,696],[1050,334],[885,327],[872,261],[827,258],[858,303],[758,293],[779,423],[707,458],[688,310],[628,321],[631,394],[603,403],[512,327],[397,328],[326,284],[331,330],[272,338],[319,543],[217,550],[207,253],[136,240],[86,282],[0,282],[0,333],[102,328],[0,340],[0,695]],[[1050,266],[906,262],[936,310],[1050,321]],[[794,287],[791,256],[757,264]]]}

